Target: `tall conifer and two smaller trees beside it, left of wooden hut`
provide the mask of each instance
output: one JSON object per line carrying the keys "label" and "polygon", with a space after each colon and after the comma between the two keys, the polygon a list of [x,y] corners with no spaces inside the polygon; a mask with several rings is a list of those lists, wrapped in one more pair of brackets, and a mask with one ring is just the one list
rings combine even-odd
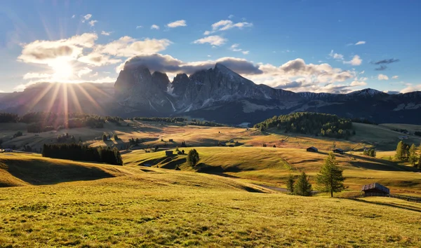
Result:
{"label": "tall conifer and two smaller trees beside it, left of wooden hut", "polygon": [[[344,186],[345,177],[342,176],[342,172],[336,161],[335,154],[329,153],[323,167],[321,167],[319,174],[317,174],[317,189],[321,192],[330,193],[330,197],[333,197],[333,193],[345,190],[347,187]],[[312,184],[310,184],[309,177],[307,177],[305,172],[300,174],[297,181],[290,175],[286,185],[288,191],[295,195],[312,195]]]}

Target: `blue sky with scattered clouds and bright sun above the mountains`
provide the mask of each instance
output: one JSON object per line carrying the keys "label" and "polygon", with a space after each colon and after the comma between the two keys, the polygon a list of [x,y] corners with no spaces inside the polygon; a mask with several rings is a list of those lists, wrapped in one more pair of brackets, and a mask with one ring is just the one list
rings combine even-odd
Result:
{"label": "blue sky with scattered clouds and bright sun above the mountains", "polygon": [[421,90],[421,1],[0,1],[0,90],[225,64],[294,92]]}

